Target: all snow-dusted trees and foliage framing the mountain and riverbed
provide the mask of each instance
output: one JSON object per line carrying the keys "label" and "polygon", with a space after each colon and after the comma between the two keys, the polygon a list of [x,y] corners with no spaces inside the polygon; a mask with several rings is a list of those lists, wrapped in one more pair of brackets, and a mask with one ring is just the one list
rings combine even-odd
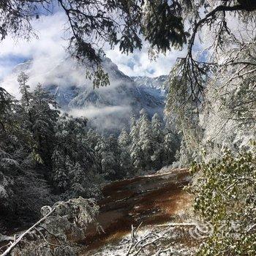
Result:
{"label": "all snow-dusted trees and foliage framing the mountain and riverbed", "polygon": [[[31,221],[44,204],[95,196],[97,184],[176,161],[194,175],[195,215],[214,226],[196,254],[255,255],[255,1],[7,0],[1,39],[31,37],[31,20],[55,6],[67,15],[69,54],[88,64],[96,87],[109,83],[104,42],[132,53],[145,41],[151,59],[173,48],[187,54],[170,71],[165,126],[142,110],[118,138],[61,114],[42,86],[29,90],[26,75],[20,101],[1,89],[1,216]],[[218,236],[219,223],[232,221],[240,238]]]}

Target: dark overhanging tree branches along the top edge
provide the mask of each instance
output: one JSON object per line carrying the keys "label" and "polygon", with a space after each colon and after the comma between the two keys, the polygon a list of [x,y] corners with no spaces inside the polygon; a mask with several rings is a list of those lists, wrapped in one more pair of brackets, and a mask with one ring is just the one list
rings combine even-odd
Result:
{"label": "dark overhanging tree branches along the top edge", "polygon": [[233,32],[229,18],[251,23],[255,9],[253,0],[4,0],[0,4],[0,34],[1,40],[7,36],[36,37],[33,19],[64,12],[69,53],[91,64],[94,86],[108,84],[108,75],[100,64],[105,42],[111,47],[118,45],[123,53],[132,53],[144,40],[150,45],[152,58],[187,45],[187,56],[178,60],[178,66],[186,73],[183,76],[195,101],[203,93],[208,71],[208,65],[192,53],[198,32],[203,27],[214,31],[211,48],[222,48]]}

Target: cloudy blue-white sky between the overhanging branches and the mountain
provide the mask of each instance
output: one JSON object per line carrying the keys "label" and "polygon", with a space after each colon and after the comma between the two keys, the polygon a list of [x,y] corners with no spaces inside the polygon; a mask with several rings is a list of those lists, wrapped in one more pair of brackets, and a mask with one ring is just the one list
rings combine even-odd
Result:
{"label": "cloudy blue-white sky between the overhanging branches and the mountain", "polygon": [[[67,41],[64,40],[64,24],[66,17],[63,12],[56,12],[53,15],[34,20],[33,26],[36,29],[38,39],[31,38],[29,42],[19,40],[18,42],[7,37],[0,44],[0,79],[10,74],[13,67],[20,62],[28,59],[48,57],[49,59],[64,59],[66,52],[64,50]],[[118,47],[114,50],[105,50],[107,56],[118,65],[127,75],[138,76],[146,75],[156,77],[166,75],[178,56],[183,56],[185,51],[178,52],[173,50],[166,56],[160,55],[157,61],[148,59],[147,45],[143,46],[141,51],[135,50],[134,53],[121,54]]]}

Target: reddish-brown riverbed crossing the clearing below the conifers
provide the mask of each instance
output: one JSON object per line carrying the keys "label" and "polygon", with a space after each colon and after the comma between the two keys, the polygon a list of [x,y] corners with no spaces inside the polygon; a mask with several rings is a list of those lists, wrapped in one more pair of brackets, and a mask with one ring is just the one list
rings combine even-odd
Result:
{"label": "reddish-brown riverbed crossing the clearing below the conifers", "polygon": [[189,207],[191,196],[183,189],[189,179],[188,171],[180,169],[116,181],[103,187],[98,222],[104,232],[97,232],[94,226],[88,228],[83,255],[129,233],[131,225],[171,221],[175,214]]}

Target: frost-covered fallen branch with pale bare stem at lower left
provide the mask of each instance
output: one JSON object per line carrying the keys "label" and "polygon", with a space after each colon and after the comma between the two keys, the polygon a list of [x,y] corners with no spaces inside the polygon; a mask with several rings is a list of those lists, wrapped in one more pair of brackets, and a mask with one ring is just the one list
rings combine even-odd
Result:
{"label": "frost-covered fallen branch with pale bare stem at lower left", "polygon": [[[98,206],[94,200],[87,200],[82,197],[74,198],[67,202],[57,202],[53,207],[44,206],[41,209],[43,217],[17,239],[14,239],[1,256],[9,255],[22,242],[25,244],[23,243],[16,250],[19,251],[21,248],[24,252],[30,252],[30,250],[36,248],[42,255],[45,255],[47,251],[67,250],[67,247],[70,247],[67,231],[69,236],[72,233],[76,233],[76,236],[79,234],[83,236],[86,225],[95,222],[97,211]],[[75,235],[73,234],[73,236]],[[27,245],[26,238],[29,237],[33,239]],[[57,241],[57,244],[53,243],[53,241]],[[75,251],[75,244],[70,249]],[[15,251],[15,253],[17,252]]]}

